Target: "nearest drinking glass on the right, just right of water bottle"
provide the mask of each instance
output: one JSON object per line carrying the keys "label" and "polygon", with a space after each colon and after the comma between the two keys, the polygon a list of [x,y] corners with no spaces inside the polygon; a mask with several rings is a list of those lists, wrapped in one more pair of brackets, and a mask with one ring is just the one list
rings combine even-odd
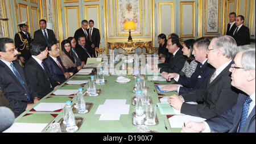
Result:
{"label": "nearest drinking glass on the right, just right of water bottle", "polygon": [[155,125],[156,104],[146,105],[146,125]]}

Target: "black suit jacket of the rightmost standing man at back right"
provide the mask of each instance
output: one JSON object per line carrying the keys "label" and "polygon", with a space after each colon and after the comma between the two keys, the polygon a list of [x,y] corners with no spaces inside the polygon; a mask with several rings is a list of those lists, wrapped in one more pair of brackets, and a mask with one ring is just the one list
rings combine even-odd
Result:
{"label": "black suit jacket of the rightmost standing man at back right", "polygon": [[231,35],[237,42],[237,46],[251,44],[249,28],[242,26],[235,35]]}

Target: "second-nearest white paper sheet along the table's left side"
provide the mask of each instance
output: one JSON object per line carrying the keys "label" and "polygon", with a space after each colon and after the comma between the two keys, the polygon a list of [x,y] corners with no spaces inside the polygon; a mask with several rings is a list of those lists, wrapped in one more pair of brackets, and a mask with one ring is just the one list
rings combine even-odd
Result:
{"label": "second-nearest white paper sheet along the table's left side", "polygon": [[34,107],[36,111],[49,111],[53,112],[58,109],[62,109],[65,103],[39,103]]}

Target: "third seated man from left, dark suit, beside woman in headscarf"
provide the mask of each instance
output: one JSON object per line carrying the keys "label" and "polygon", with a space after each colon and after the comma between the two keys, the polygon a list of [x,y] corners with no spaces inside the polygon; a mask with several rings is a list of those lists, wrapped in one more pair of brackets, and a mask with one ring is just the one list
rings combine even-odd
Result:
{"label": "third seated man from left, dark suit, beside woman in headscarf", "polygon": [[70,74],[67,72],[68,70],[63,66],[63,63],[60,60],[60,49],[56,44],[49,44],[48,48],[48,56],[44,60],[46,63],[49,72],[54,81],[61,84],[69,79]]}

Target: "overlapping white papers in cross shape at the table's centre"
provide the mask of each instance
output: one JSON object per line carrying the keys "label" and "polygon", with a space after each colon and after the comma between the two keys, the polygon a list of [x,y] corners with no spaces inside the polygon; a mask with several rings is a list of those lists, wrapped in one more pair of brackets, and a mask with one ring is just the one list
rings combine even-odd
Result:
{"label": "overlapping white papers in cross shape at the table's centre", "polygon": [[103,105],[99,105],[95,114],[100,114],[100,120],[119,120],[120,115],[129,114],[130,105],[126,99],[107,99]]}

